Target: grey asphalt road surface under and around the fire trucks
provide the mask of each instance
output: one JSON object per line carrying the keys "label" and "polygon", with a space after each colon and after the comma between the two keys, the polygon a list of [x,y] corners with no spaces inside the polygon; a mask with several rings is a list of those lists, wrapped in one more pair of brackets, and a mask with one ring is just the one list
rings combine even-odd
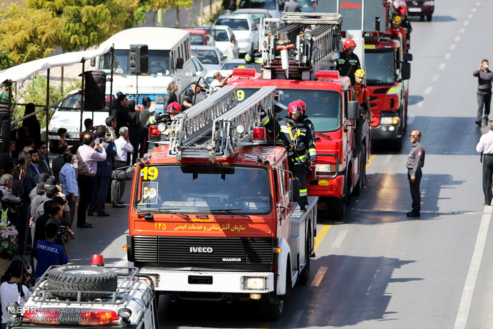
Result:
{"label": "grey asphalt road surface under and around the fire trucks", "polygon": [[[345,220],[320,214],[312,279],[293,289],[280,321],[262,322],[250,302],[177,307],[162,296],[160,328],[493,328],[492,207],[483,205],[475,151],[486,128],[474,123],[471,74],[493,53],[493,2],[436,3],[432,22],[412,21],[409,128],[422,131],[426,148],[421,218],[405,214],[410,143],[380,150]],[[91,254],[125,263],[127,211],[107,210],[111,217],[88,218],[94,228],[75,228],[74,263]]]}

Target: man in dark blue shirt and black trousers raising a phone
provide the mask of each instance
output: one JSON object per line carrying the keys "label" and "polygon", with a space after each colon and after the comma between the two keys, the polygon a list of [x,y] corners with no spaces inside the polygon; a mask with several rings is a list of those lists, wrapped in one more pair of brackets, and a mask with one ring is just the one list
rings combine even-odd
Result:
{"label": "man in dark blue shirt and black trousers raising a phone", "polygon": [[[104,141],[106,138],[106,127],[99,126],[96,130],[96,139]],[[109,214],[105,212],[106,195],[108,194],[109,179],[113,171],[113,156],[116,155],[116,146],[114,136],[109,137],[105,141],[106,159],[98,161],[96,176],[94,177],[94,190],[91,202],[87,208],[87,216],[92,216],[94,208],[96,208],[96,197],[98,198],[98,217],[107,217]],[[96,150],[101,153],[101,148]]]}

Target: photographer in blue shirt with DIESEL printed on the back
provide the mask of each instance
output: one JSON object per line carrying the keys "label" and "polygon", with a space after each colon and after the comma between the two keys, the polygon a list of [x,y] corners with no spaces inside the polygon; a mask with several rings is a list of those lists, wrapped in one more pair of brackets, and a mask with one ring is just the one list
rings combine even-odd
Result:
{"label": "photographer in blue shirt with DIESEL printed on the back", "polygon": [[[53,207],[53,212],[58,213],[55,216],[62,216],[62,207],[57,205]],[[69,257],[67,256],[67,249],[65,248],[65,242],[62,245],[55,243],[55,236],[57,235],[57,224],[49,223],[46,225],[46,240],[36,241],[36,256],[37,256],[37,266],[36,266],[36,279],[41,277],[44,272],[51,265],[64,265],[69,262]]]}

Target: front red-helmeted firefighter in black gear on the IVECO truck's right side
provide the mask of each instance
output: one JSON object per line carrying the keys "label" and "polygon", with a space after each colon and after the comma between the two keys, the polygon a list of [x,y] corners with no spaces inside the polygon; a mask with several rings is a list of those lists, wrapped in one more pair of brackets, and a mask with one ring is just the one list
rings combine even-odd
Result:
{"label": "front red-helmeted firefighter in black gear on the IVECO truck's right side", "polygon": [[278,139],[286,147],[289,170],[300,180],[300,201],[298,204],[300,210],[306,212],[308,205],[307,167],[310,166],[310,161],[317,161],[317,151],[310,127],[302,119],[303,110],[298,101],[289,103],[287,109],[287,116],[279,121],[271,122],[265,113],[261,114],[263,116],[261,119],[269,131],[278,134]]}

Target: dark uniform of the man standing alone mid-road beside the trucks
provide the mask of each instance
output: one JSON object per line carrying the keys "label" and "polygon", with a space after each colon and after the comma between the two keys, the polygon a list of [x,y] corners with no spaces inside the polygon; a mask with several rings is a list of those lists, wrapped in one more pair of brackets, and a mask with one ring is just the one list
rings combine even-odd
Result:
{"label": "dark uniform of the man standing alone mid-road beside the trucks", "polygon": [[[411,213],[419,215],[421,211],[421,194],[420,183],[423,177],[421,168],[424,166],[424,146],[421,142],[413,144],[409,157],[407,158],[407,179],[411,188],[411,197],[413,198],[413,211]],[[411,182],[411,176],[415,177],[414,183]],[[408,213],[409,214],[409,213]]]}

